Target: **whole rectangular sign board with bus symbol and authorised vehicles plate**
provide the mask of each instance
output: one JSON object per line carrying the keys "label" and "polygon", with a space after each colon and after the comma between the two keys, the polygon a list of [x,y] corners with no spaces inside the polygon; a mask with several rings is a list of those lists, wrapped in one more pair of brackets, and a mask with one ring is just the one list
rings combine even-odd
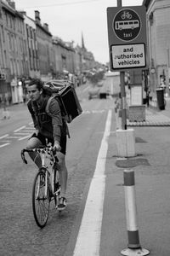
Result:
{"label": "whole rectangular sign board with bus symbol and authorised vehicles plate", "polygon": [[144,6],[107,8],[111,71],[146,67]]}

